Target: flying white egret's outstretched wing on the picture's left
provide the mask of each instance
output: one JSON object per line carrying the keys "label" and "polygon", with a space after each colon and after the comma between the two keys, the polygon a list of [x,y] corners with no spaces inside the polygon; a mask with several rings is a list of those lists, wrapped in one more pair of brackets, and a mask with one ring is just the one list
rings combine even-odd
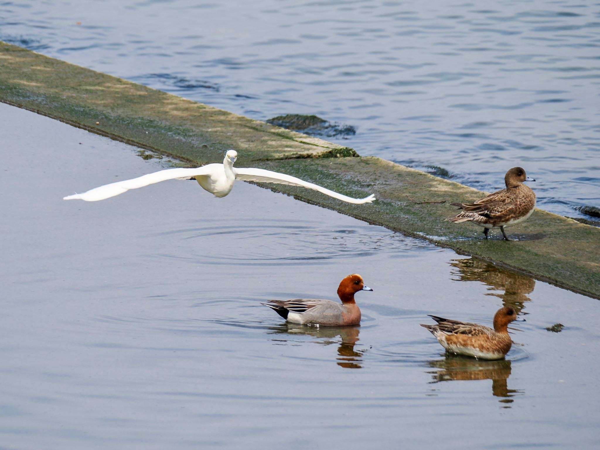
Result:
{"label": "flying white egret's outstretched wing on the picture's left", "polygon": [[[220,166],[221,164],[217,164]],[[74,194],[72,196],[64,197],[63,200],[85,200],[86,202],[96,202],[97,200],[108,199],[109,197],[118,196],[130,189],[137,189],[140,187],[148,186],[149,184],[166,181],[167,179],[175,178],[189,178],[190,176],[210,175],[214,164],[207,164],[206,166],[196,167],[195,169],[166,169],[160,170],[160,172],[148,173],[148,175],[142,175],[137,178],[126,179],[124,181],[117,181],[115,183],[105,184],[94,189],[91,189],[83,194]]]}

